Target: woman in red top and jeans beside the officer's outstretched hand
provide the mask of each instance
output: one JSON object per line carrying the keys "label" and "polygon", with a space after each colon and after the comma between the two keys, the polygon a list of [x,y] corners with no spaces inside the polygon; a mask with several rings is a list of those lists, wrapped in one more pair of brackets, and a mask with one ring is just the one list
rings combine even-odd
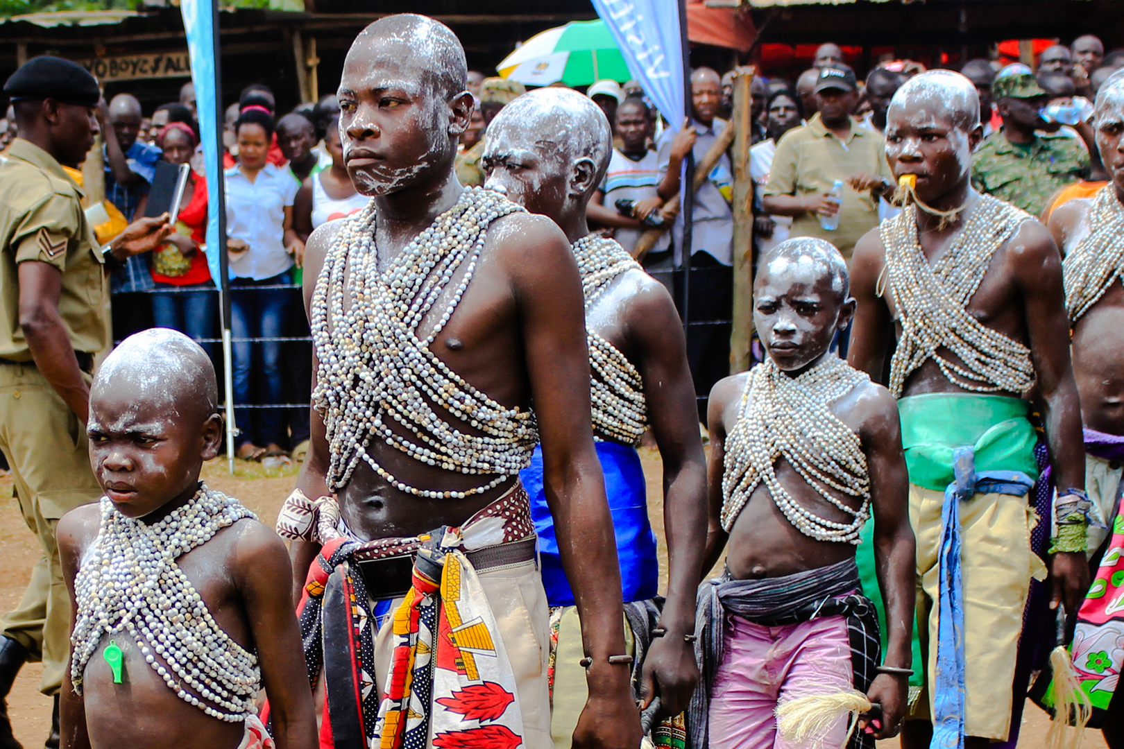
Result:
{"label": "woman in red top and jeans beside the officer's outstretched hand", "polygon": [[[161,129],[156,145],[170,164],[188,164],[196,153],[196,134],[189,125],[172,122]],[[196,340],[215,337],[218,294],[207,267],[207,181],[188,172],[175,227],[152,257],[152,314],[158,328],[173,328]],[[188,291],[188,290],[191,291]],[[210,344],[200,344],[211,354]]]}

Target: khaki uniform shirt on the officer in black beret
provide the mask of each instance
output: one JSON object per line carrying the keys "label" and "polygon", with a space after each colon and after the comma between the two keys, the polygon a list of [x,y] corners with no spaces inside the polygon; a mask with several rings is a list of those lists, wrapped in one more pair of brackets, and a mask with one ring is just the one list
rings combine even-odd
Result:
{"label": "khaki uniform shirt on the officer in black beret", "polygon": [[27,261],[62,272],[58,314],[74,350],[109,347],[109,280],[81,200],[51,154],[22,138],[12,141],[0,164],[0,358],[31,360],[19,326],[17,268]]}

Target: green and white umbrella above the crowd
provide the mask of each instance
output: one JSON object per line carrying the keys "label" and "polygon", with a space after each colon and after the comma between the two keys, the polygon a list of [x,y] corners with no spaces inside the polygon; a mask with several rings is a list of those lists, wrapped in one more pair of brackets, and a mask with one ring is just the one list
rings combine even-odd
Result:
{"label": "green and white umbrella above the crowd", "polygon": [[496,66],[524,85],[589,85],[602,79],[624,83],[632,75],[605,21],[571,21],[546,29]]}

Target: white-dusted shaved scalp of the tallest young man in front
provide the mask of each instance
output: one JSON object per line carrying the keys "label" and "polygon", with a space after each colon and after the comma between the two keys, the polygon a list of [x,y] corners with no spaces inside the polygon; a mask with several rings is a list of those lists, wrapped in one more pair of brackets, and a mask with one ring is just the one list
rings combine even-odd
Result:
{"label": "white-dusted shaved scalp of the tallest young man in front", "polygon": [[382,58],[413,63],[433,91],[446,100],[468,89],[469,65],[461,40],[428,16],[399,13],[380,18],[355,37],[347,57],[354,53],[372,55],[373,63]]}

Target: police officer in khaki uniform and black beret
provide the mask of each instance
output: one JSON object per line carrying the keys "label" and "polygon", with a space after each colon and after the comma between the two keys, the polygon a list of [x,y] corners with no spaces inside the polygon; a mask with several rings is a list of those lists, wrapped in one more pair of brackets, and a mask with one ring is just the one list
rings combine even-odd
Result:
{"label": "police officer in khaki uniform and black beret", "polygon": [[110,344],[107,272],[158,246],[171,227],[166,217],[143,219],[98,245],[82,191],[63,171],[85,159],[98,134],[101,93],[81,65],[36,57],[3,91],[19,137],[0,165],[0,450],[43,551],[19,608],[0,618],[0,749],[13,749],[2,700],[26,660],[43,661],[39,688],[55,698],[46,746],[58,746],[70,602],[55,526],[101,494],[85,421],[93,356]]}

